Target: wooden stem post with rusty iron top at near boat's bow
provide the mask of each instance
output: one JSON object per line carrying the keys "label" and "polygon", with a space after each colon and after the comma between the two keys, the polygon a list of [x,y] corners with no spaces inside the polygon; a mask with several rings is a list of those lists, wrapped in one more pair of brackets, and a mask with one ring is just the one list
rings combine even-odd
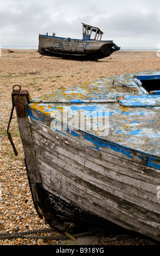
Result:
{"label": "wooden stem post with rusty iron top at near boat's bow", "polygon": [[49,223],[49,225],[51,225],[57,230],[65,231],[66,227],[56,220],[54,210],[50,205],[50,202],[46,194],[46,190],[44,190],[43,188],[40,169],[36,159],[34,139],[27,112],[27,106],[29,103],[29,93],[27,90],[21,90],[20,86],[18,86],[18,90],[15,90],[14,87],[12,90],[12,112],[13,108],[15,107],[18,127],[20,129],[20,136],[23,144],[25,156],[24,161],[35,209],[39,217],[44,217],[46,219],[46,222]]}

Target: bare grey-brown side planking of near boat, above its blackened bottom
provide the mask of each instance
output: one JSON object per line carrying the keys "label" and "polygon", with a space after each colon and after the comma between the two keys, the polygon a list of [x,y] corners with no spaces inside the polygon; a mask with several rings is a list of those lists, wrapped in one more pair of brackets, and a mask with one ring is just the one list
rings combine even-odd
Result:
{"label": "bare grey-brown side planking of near boat, above its blackened bottom", "polygon": [[[149,228],[145,227],[146,230],[150,230],[150,225],[159,227],[159,203],[156,197],[158,178],[140,173],[138,165],[137,172],[132,170],[131,162],[130,168],[125,167],[126,160],[124,167],[118,165],[118,161],[112,164],[113,155],[110,155],[110,161],[102,160],[101,163],[99,154],[92,157],[85,151],[88,145],[83,145],[84,150],[81,151],[79,143],[73,139],[67,138],[66,143],[65,136],[44,124],[33,119],[30,119],[30,123],[46,190],[56,196],[61,191],[60,197],[103,218],[107,216],[108,220],[119,222],[126,228],[138,230],[144,223],[149,225]],[[42,126],[45,128],[42,129]],[[69,145],[69,141],[72,145]],[[136,164],[133,163],[133,166],[135,168]],[[109,212],[112,218],[108,217]],[[123,223],[124,220],[127,224]]]}

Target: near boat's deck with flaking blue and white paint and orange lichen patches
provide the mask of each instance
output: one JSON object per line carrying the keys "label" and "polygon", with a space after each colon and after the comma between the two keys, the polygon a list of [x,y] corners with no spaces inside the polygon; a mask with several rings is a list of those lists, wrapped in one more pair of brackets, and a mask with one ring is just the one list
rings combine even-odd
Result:
{"label": "near boat's deck with flaking blue and white paint and orange lichen patches", "polygon": [[[125,74],[59,89],[32,99],[29,109],[51,120],[63,121],[64,125],[67,123],[67,129],[72,127],[75,137],[76,131],[86,131],[107,142],[158,158],[160,95],[146,94],[133,79],[134,75],[155,76],[158,72]],[[29,115],[33,117],[33,112]],[[44,122],[41,115],[40,120]],[[66,131],[59,132],[65,135]],[[100,148],[98,142],[95,144]]]}

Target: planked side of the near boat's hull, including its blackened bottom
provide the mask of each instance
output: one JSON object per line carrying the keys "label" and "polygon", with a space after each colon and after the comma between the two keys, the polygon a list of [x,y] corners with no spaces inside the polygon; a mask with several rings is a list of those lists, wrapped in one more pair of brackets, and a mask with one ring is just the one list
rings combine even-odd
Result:
{"label": "planked side of the near boat's hull, including its blackened bottom", "polygon": [[36,183],[36,204],[51,226],[59,223],[62,226],[57,229],[63,230],[61,227],[69,222],[100,227],[109,221],[160,240],[156,197],[159,173],[146,167],[143,154],[133,152],[135,159],[131,161],[126,155],[118,156],[117,149],[96,150],[82,139],[87,135],[79,134],[82,142],[74,140],[71,133],[67,137],[67,132],[62,135],[50,129],[49,119],[44,125],[35,121],[40,118],[37,113],[32,112],[31,116],[29,123],[42,179]]}

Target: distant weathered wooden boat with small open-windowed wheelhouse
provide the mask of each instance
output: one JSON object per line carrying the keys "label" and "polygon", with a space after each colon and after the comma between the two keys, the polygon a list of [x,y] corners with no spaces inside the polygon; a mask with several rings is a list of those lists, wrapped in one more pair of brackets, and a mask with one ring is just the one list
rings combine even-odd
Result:
{"label": "distant weathered wooden boat with small open-windowed wheelhouse", "polygon": [[98,60],[120,50],[113,41],[103,41],[99,28],[83,25],[83,39],[39,35],[39,53],[45,56],[75,60]]}

